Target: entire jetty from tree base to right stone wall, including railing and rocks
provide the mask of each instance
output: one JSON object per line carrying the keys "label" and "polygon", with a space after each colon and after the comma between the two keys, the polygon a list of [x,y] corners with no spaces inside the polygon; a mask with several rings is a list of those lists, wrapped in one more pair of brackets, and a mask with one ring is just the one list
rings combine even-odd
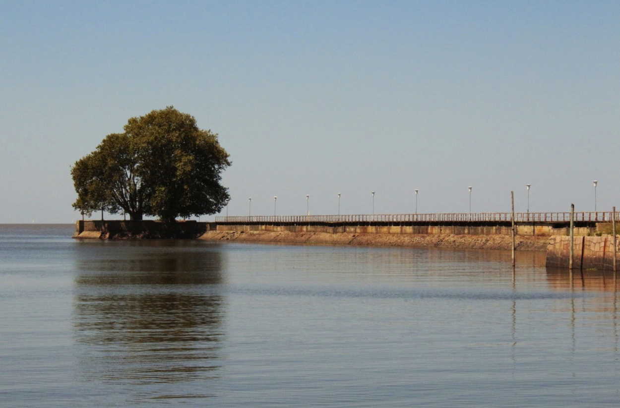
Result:
{"label": "entire jetty from tree base to right stone wall, including railing and rocks", "polygon": [[210,223],[80,220],[74,237],[516,249],[546,251],[547,267],[611,269],[619,252],[613,236],[613,221],[618,220],[618,215],[616,211],[598,211],[572,215],[551,212],[218,216]]}

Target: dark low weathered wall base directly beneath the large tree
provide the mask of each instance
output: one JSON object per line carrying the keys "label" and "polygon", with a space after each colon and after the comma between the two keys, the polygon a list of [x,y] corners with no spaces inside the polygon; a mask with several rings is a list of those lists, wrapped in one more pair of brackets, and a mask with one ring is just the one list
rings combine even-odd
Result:
{"label": "dark low weathered wall base directly beneath the large tree", "polygon": [[89,239],[195,239],[215,225],[196,221],[162,223],[153,220],[143,221],[78,221],[74,238]]}

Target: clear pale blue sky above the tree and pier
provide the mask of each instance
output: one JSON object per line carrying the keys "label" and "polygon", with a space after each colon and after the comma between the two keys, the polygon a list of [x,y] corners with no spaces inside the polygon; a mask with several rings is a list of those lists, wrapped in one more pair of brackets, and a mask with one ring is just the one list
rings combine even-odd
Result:
{"label": "clear pale blue sky above the tree and pier", "polygon": [[77,220],[74,162],[170,105],[229,215],[620,208],[618,1],[2,0],[0,223]]}

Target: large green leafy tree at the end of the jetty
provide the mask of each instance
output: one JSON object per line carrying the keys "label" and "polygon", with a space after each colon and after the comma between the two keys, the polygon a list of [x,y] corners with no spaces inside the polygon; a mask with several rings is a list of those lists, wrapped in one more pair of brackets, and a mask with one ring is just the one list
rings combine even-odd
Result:
{"label": "large green leafy tree at the end of the jetty", "polygon": [[83,213],[123,211],[163,221],[214,214],[229,200],[220,184],[230,166],[218,135],[174,107],[130,118],[124,133],[112,133],[82,157],[71,175]]}

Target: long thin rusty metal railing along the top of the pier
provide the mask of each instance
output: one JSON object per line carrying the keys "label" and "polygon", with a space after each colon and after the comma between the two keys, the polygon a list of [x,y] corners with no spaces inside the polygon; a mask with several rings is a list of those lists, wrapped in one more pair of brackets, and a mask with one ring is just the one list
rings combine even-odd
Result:
{"label": "long thin rusty metal railing along the top of the pier", "polygon": [[[620,211],[616,211],[616,220]],[[575,221],[611,222],[613,211],[575,213]],[[511,213],[432,213],[376,215],[277,215],[217,216],[216,223],[392,223],[392,222],[502,222],[511,221]],[[569,213],[515,213],[516,223],[567,223]]]}

